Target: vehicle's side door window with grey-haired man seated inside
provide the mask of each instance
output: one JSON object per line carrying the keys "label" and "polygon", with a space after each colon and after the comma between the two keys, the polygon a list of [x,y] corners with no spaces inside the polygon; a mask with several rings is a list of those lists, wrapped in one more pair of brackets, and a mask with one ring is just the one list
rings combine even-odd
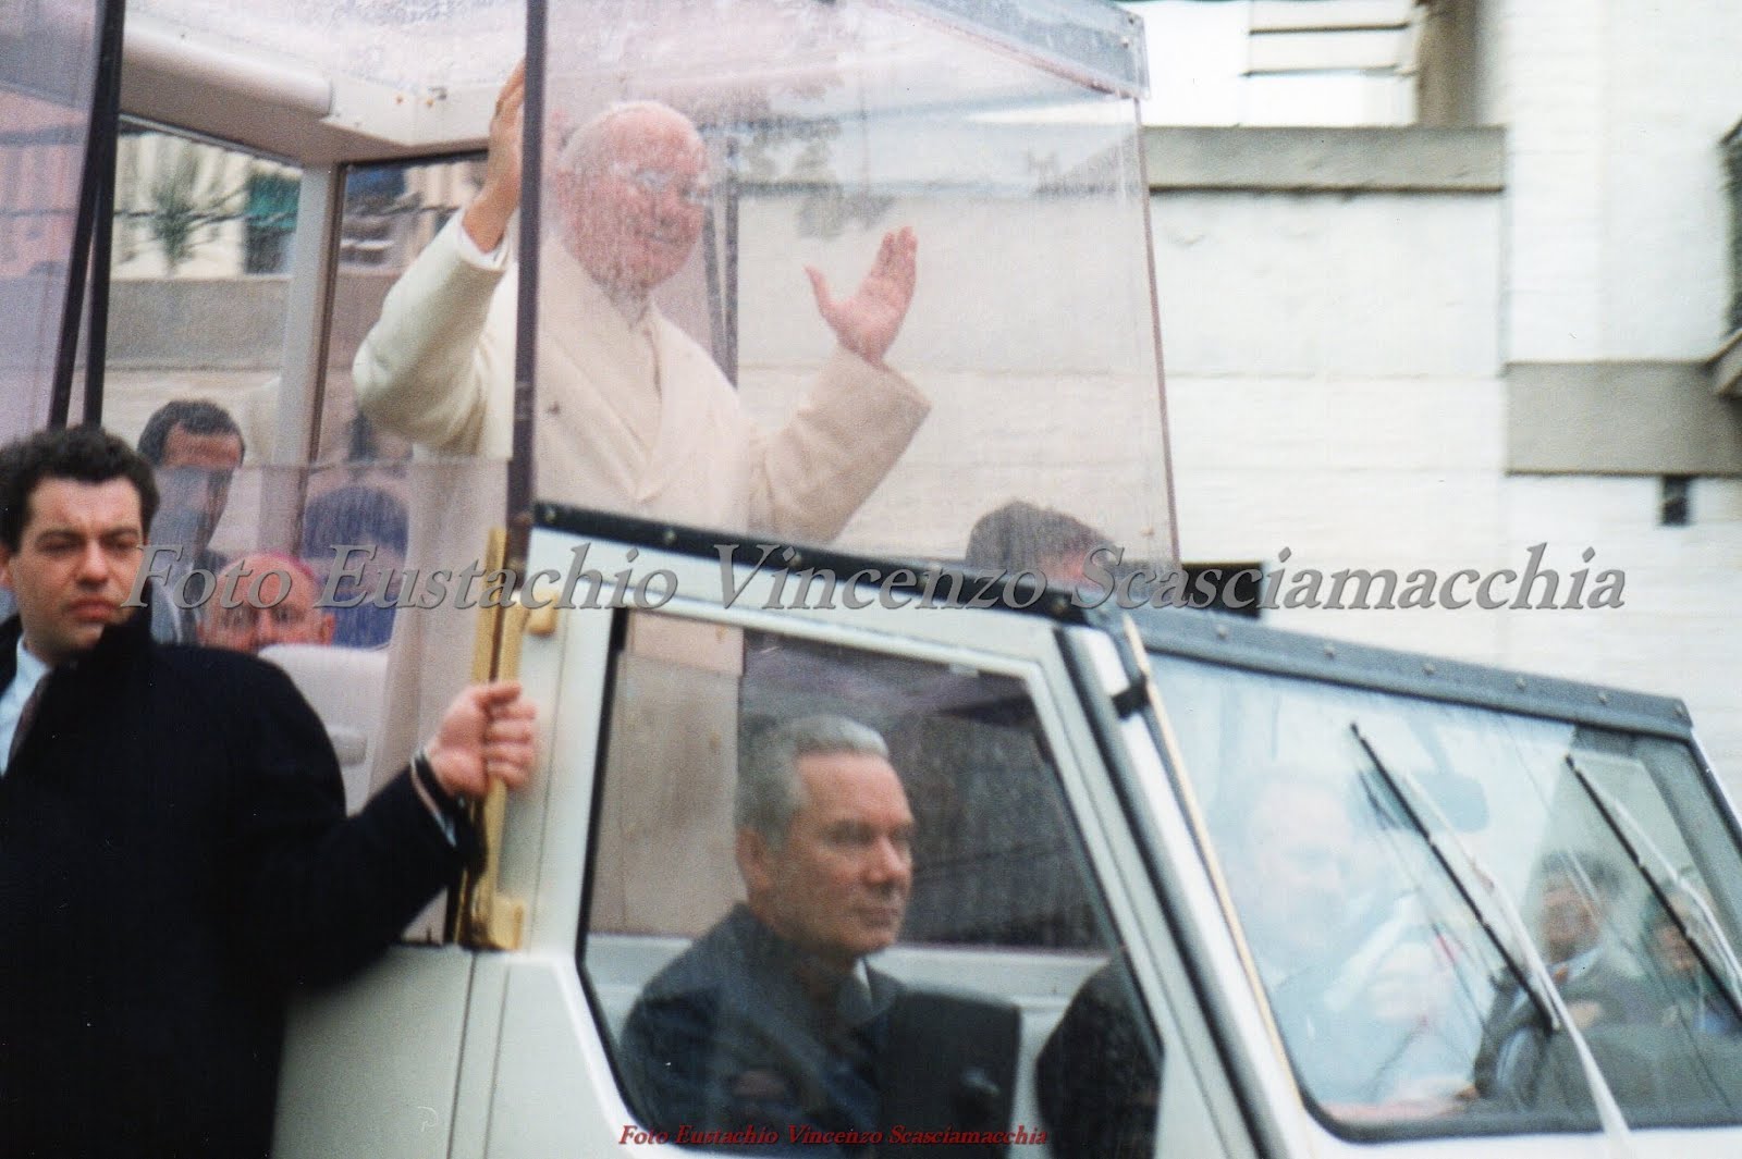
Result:
{"label": "vehicle's side door window with grey-haired man seated inside", "polygon": [[1023,680],[634,613],[611,689],[577,961],[636,1129],[1153,1154],[1160,1044]]}

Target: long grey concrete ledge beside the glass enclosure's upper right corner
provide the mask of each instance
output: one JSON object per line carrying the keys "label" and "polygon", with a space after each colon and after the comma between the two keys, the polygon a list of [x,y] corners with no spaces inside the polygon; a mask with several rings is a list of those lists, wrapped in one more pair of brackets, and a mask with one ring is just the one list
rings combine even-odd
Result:
{"label": "long grey concrete ledge beside the glass enclosure's upper right corner", "polygon": [[1498,193],[1505,129],[1143,131],[1151,190]]}

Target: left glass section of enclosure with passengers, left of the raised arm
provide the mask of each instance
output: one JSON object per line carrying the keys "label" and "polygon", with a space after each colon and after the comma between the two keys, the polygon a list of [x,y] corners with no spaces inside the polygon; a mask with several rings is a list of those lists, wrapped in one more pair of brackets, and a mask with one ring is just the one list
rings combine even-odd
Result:
{"label": "left glass section of enclosure with passengers, left of the raised arm", "polygon": [[[157,468],[153,630],[289,670],[327,724],[352,807],[469,677],[484,569],[469,590],[432,580],[477,564],[502,520],[500,463],[413,463],[350,388],[368,320],[470,171],[357,165],[324,237],[298,165],[139,122],[117,148],[105,425]],[[293,266],[324,245],[331,324],[310,392],[287,385],[287,352],[310,339],[293,332],[312,317],[298,305],[326,291]]]}

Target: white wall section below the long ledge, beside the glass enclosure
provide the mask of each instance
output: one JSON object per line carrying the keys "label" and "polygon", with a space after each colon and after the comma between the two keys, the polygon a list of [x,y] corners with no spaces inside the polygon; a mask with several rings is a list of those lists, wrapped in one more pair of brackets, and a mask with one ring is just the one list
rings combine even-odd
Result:
{"label": "white wall section below the long ledge, beside the glass enclosure", "polygon": [[[1153,212],[1185,559],[1502,566],[1498,200],[1205,191]],[[1472,660],[1502,640],[1470,609],[1266,618]]]}

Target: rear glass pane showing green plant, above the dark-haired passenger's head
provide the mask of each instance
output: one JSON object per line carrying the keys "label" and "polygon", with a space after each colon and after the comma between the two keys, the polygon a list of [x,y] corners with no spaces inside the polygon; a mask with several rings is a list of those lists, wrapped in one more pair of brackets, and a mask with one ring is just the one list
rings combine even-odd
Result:
{"label": "rear glass pane showing green plant, above the dark-haired passenger's head", "polygon": [[[301,447],[277,446],[300,179],[300,169],[272,158],[124,124],[103,423],[155,466],[303,459]],[[183,439],[165,446],[160,416],[171,404],[200,404],[206,416],[179,423],[185,432],[233,432],[242,458],[213,459],[214,449]],[[172,510],[186,508],[165,503]],[[211,529],[186,531],[165,534],[204,546],[197,539]]]}

